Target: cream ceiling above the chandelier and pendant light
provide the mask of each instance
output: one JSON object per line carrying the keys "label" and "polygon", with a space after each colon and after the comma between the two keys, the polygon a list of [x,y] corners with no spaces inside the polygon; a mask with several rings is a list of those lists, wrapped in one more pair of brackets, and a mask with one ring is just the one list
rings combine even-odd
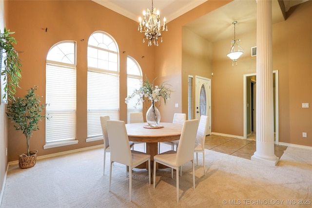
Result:
{"label": "cream ceiling above the chandelier and pendant light", "polygon": [[[143,10],[146,11],[147,8],[151,10],[152,8],[152,0],[93,1],[137,22],[138,18],[142,17]],[[153,4],[154,8],[160,12],[160,19],[166,17],[167,22],[170,22],[205,1],[206,0],[154,0]],[[288,11],[290,7],[307,0],[283,1],[285,10]],[[256,6],[256,0],[234,0],[184,26],[210,42],[233,38],[233,21],[237,21],[235,26],[236,36],[256,29]],[[276,23],[280,21],[284,21],[284,18],[278,0],[272,0],[272,22]],[[168,31],[170,31],[170,27],[168,27]]]}

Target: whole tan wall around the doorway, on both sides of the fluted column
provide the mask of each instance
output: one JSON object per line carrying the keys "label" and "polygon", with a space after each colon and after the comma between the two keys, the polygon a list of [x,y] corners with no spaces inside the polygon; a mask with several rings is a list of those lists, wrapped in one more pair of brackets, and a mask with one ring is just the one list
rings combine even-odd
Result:
{"label": "whole tan wall around the doorway, on both sides of the fluted column", "polygon": [[[279,71],[279,142],[312,146],[312,1],[273,25],[273,70]],[[245,53],[232,66],[226,57],[231,39],[214,43],[212,131],[243,136],[243,75],[256,72],[256,31],[240,35]],[[308,137],[303,138],[302,132]]]}

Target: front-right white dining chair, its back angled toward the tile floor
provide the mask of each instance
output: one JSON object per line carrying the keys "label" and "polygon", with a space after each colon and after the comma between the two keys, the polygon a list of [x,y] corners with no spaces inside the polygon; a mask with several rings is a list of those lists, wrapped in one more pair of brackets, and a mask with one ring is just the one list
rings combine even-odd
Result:
{"label": "front-right white dining chair, its back angled toward the tile floor", "polygon": [[[188,120],[183,124],[179,146],[177,151],[166,151],[154,156],[154,167],[156,163],[163,164],[171,168],[171,177],[173,178],[173,169],[176,170],[176,201],[179,201],[179,167],[192,161],[193,168],[193,187],[195,189],[195,169],[194,169],[194,144],[198,120]],[[156,184],[156,168],[154,168],[154,189]]]}

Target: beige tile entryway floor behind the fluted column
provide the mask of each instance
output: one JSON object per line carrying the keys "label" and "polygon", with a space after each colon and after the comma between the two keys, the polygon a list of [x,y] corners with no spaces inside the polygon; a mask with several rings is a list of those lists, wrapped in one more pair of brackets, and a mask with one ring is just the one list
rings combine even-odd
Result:
{"label": "beige tile entryway floor behind the fluted column", "polygon": [[[218,151],[225,154],[231,154],[237,157],[251,159],[255,152],[255,139],[239,139],[227,136],[208,135],[205,140],[205,148]],[[287,146],[274,145],[274,153],[281,157]]]}

